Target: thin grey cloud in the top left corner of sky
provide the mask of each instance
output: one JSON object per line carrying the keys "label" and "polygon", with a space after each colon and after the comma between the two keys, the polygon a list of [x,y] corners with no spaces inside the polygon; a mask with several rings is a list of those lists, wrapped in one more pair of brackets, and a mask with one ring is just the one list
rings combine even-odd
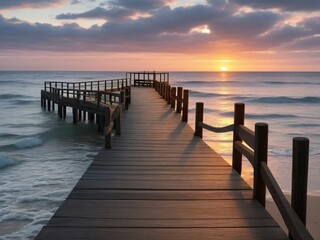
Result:
{"label": "thin grey cloud in the top left corner of sky", "polygon": [[66,2],[66,0],[1,0],[0,9],[33,7],[42,8]]}

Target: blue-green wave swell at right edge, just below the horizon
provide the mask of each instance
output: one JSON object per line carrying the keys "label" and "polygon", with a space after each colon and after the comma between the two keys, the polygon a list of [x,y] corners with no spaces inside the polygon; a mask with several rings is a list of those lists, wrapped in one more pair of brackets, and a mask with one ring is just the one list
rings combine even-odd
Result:
{"label": "blue-green wave swell at right edge, just below the horizon", "polygon": [[302,97],[302,98],[292,98],[292,97],[261,97],[252,99],[249,102],[254,103],[320,103],[320,97]]}

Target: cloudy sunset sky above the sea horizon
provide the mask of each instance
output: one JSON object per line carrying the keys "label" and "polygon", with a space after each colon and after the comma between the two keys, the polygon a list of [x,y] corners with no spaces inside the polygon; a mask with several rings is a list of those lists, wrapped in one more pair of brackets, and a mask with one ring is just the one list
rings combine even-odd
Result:
{"label": "cloudy sunset sky above the sea horizon", "polygon": [[0,0],[0,70],[320,71],[320,1]]}

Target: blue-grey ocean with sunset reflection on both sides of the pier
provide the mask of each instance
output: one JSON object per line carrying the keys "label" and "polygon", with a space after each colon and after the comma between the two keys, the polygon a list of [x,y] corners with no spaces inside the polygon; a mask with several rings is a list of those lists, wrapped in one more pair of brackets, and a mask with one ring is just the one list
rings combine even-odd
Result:
{"label": "blue-grey ocean with sunset reflection on both sides of the pier", "polygon": [[[96,126],[73,125],[70,109],[66,120],[41,109],[44,81],[124,76],[0,71],[0,239],[33,239],[103,147]],[[235,102],[246,104],[245,124],[251,129],[256,122],[268,123],[268,164],[285,193],[291,189],[292,138],[309,138],[308,193],[320,196],[320,73],[172,72],[170,83],[190,90],[193,128],[196,102],[204,102],[204,121],[216,127],[232,123]],[[204,140],[230,162],[231,133],[204,131]],[[251,184],[250,165],[244,166],[243,177]]]}

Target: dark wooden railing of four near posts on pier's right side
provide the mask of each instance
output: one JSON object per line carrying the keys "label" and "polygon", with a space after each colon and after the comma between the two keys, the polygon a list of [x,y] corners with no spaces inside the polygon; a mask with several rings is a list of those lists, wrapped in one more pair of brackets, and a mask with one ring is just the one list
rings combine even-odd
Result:
{"label": "dark wooden railing of four near posts on pier's right side", "polygon": [[313,239],[305,227],[308,179],[309,140],[293,139],[291,205],[270,171],[268,160],[268,124],[256,123],[252,131],[244,125],[245,105],[235,104],[234,123],[214,127],[203,122],[203,103],[196,103],[195,136],[202,138],[203,129],[216,132],[233,132],[232,166],[241,175],[242,156],[253,166],[253,198],[264,207],[268,188],[289,230],[291,239]]}

